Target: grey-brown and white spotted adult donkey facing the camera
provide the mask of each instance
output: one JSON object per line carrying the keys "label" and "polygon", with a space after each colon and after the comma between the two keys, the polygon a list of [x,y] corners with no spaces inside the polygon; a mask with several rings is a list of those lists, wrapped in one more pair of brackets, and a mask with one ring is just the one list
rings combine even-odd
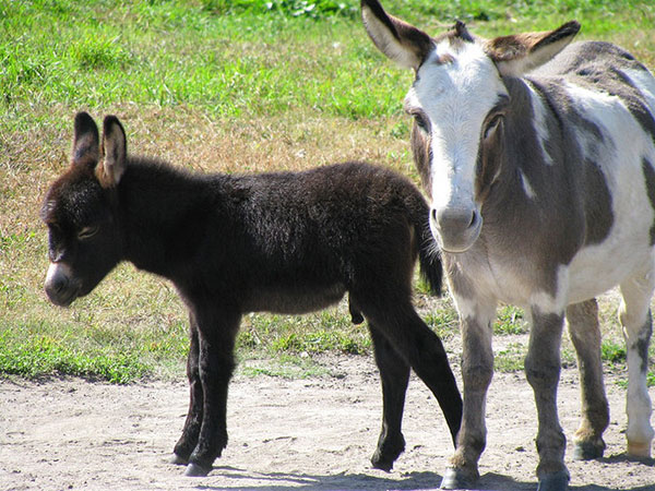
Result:
{"label": "grey-brown and white spotted adult donkey facing the camera", "polygon": [[655,288],[655,80],[607,43],[568,47],[576,22],[483,39],[463,23],[430,37],[361,1],[378,48],[416,79],[405,98],[462,324],[464,416],[442,488],[469,487],[485,447],[498,302],[532,319],[527,381],[539,489],[565,489],[557,416],[564,316],[581,371],[575,457],[603,455],[609,410],[595,297],[619,285],[628,348],[628,453],[651,453],[646,387]]}

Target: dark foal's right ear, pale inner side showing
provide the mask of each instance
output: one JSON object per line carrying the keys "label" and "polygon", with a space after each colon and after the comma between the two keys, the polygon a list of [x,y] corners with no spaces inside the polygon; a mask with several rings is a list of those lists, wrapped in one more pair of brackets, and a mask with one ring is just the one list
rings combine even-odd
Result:
{"label": "dark foal's right ear, pale inner side showing", "polygon": [[96,177],[103,188],[118,185],[128,165],[126,131],[116,116],[103,122],[103,161],[96,167]]}

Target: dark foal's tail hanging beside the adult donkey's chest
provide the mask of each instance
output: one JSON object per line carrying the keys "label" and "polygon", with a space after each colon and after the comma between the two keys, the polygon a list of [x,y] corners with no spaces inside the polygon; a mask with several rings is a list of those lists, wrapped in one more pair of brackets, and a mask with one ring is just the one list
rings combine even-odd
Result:
{"label": "dark foal's tail hanging beside the adult donkey's chest", "polygon": [[439,246],[432,232],[430,231],[430,208],[420,197],[420,206],[417,206],[414,213],[414,230],[418,242],[418,264],[420,275],[428,284],[430,292],[441,296],[441,287],[443,283],[443,266],[441,264],[441,254]]}

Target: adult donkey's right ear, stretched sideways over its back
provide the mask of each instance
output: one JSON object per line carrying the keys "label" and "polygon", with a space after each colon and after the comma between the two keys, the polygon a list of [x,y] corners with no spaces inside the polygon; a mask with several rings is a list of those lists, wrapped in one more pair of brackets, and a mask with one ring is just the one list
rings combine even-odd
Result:
{"label": "adult donkey's right ear, stretched sideways over its back", "polygon": [[520,76],[550,61],[579,31],[580,24],[571,21],[555,31],[497,37],[485,43],[485,51],[502,75]]}

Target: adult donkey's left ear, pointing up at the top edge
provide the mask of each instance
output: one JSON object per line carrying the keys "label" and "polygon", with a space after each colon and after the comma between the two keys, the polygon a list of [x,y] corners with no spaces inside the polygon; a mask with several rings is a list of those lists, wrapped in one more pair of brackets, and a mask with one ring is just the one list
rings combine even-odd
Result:
{"label": "adult donkey's left ear, pointing up at the top edge", "polygon": [[389,15],[378,0],[361,0],[361,20],[378,49],[401,67],[418,70],[433,49],[430,36]]}

